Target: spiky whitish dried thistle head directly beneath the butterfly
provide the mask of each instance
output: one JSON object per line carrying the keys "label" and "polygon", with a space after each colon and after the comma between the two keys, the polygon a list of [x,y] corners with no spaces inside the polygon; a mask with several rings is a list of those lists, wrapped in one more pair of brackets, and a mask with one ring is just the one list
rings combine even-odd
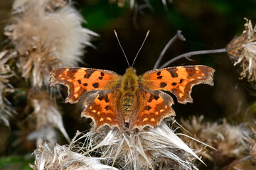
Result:
{"label": "spiky whitish dried thistle head directly beneath the butterfly", "polygon": [[[198,156],[165,123],[141,132],[102,128],[100,132],[88,132],[88,152],[100,152],[122,169],[197,169],[193,158]],[[201,159],[199,159],[201,160]]]}

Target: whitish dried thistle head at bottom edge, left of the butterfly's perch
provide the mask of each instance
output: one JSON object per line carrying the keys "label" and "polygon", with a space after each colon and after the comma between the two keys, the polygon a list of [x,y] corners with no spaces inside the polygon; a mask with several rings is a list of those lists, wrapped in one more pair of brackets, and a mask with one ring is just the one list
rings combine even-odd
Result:
{"label": "whitish dried thistle head at bottom edge, left of the butterfly's perch", "polygon": [[39,145],[38,149],[34,151],[36,160],[34,165],[30,165],[34,170],[117,170],[114,167],[101,164],[102,159],[96,157],[85,157],[80,154],[82,148],[75,152],[75,148],[78,146],[78,135],[73,138],[72,142],[68,146],[55,145],[52,147],[47,142],[43,145]]}

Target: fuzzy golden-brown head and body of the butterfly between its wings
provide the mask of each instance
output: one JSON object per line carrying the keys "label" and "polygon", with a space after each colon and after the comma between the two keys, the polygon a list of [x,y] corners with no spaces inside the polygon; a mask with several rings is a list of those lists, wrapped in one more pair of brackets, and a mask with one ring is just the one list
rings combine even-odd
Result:
{"label": "fuzzy golden-brown head and body of the butterfly between its wings", "polygon": [[129,118],[135,109],[134,105],[136,102],[134,100],[138,86],[136,70],[133,67],[129,67],[122,76],[121,86],[119,88],[119,91],[122,93],[120,106],[126,123],[129,122]]}

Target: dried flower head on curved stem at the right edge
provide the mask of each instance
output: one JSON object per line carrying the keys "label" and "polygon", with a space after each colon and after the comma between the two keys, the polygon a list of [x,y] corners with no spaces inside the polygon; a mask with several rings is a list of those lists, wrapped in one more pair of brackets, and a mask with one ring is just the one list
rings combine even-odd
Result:
{"label": "dried flower head on curved stem at the right edge", "polygon": [[245,30],[242,35],[231,40],[227,45],[227,51],[234,65],[240,64],[242,78],[248,81],[256,81],[256,27],[252,28],[252,22],[245,18]]}

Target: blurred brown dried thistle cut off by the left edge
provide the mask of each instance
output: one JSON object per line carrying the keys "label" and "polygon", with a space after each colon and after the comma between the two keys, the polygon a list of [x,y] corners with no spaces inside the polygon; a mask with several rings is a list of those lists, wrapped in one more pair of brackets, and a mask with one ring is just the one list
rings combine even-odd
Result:
{"label": "blurred brown dried thistle cut off by the left edge", "polygon": [[13,92],[14,89],[8,85],[9,79],[14,76],[8,62],[14,55],[9,55],[8,51],[0,52],[0,122],[9,126],[9,118],[15,113],[11,108],[11,103],[4,97],[7,92]]}

